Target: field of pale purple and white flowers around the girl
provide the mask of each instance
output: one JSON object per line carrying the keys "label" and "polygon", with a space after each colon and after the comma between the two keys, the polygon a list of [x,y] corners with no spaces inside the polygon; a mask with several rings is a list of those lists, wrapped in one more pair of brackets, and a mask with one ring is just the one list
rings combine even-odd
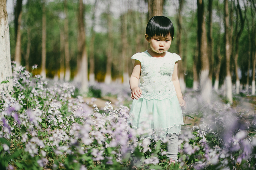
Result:
{"label": "field of pale purple and white flowers around the girl", "polygon": [[[188,105],[184,120],[200,119],[200,124],[182,126],[179,159],[169,165],[168,141],[159,137],[162,132],[146,131],[146,127],[135,130],[129,124],[129,87],[95,85],[98,94],[119,100],[118,108],[106,102],[101,109],[95,98],[84,102],[72,84],[42,81],[24,67],[15,70],[13,92],[0,91],[0,169],[256,167],[255,116],[238,112],[215,93],[211,104],[204,104],[197,91],[184,95]],[[234,100],[241,98],[237,95]]]}

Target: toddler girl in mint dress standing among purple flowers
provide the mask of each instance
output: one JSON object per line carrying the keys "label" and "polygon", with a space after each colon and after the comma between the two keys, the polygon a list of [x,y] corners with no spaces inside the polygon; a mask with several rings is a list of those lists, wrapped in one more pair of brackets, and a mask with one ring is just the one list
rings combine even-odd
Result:
{"label": "toddler girl in mint dress standing among purple flowers", "polygon": [[[132,59],[135,63],[130,78],[131,97],[136,99],[130,110],[133,117],[131,123],[138,128],[141,122],[146,122],[152,129],[165,131],[169,139],[167,156],[170,162],[177,161],[178,134],[183,124],[181,108],[186,109],[177,76],[177,61],[181,58],[167,52],[173,35],[173,23],[167,17],[152,17],[145,34],[150,49],[134,54]],[[149,114],[153,120],[148,119]]]}

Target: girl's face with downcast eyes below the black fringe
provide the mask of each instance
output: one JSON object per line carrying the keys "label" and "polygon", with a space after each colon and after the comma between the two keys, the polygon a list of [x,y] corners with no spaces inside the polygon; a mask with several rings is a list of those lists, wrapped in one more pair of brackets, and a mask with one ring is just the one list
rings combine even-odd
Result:
{"label": "girl's face with downcast eyes below the black fringe", "polygon": [[157,54],[162,54],[169,50],[170,45],[171,45],[171,36],[168,37],[159,37],[159,36],[154,36],[151,39],[149,39],[148,35],[145,35],[147,41],[150,44],[151,52],[157,53]]}

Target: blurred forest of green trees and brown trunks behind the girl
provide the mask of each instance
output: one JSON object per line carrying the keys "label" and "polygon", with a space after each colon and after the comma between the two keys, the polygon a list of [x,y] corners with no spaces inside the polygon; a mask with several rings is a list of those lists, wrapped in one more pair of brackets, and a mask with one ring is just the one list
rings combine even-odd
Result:
{"label": "blurred forest of green trees and brown trunks behind the girl", "polygon": [[[237,93],[243,87],[248,90],[249,84],[255,89],[254,0],[227,1],[228,15],[224,10],[226,1],[222,0],[159,2],[161,7],[157,9],[150,5],[153,1],[145,0],[8,0],[11,60],[26,66],[28,71],[37,64],[39,69],[33,74],[43,78],[79,82],[80,68],[87,65],[91,83],[128,83],[133,69],[130,57],[149,47],[144,34],[152,15],[151,6],[174,24],[174,41],[169,51],[182,58],[182,91],[197,89],[198,80],[204,82],[203,70],[207,70],[207,77],[217,90],[224,84],[229,64]],[[85,46],[81,39],[85,39]],[[84,55],[83,50],[87,62],[79,57]],[[204,85],[200,86],[203,89]]]}

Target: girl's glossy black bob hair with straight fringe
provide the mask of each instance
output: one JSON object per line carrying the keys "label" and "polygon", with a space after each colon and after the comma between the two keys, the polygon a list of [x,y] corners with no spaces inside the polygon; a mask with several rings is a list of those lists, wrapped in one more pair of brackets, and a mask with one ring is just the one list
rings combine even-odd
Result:
{"label": "girl's glossy black bob hair with straight fringe", "polygon": [[168,37],[173,40],[174,27],[170,19],[165,16],[153,16],[147,24],[146,34],[149,39],[154,36]]}

